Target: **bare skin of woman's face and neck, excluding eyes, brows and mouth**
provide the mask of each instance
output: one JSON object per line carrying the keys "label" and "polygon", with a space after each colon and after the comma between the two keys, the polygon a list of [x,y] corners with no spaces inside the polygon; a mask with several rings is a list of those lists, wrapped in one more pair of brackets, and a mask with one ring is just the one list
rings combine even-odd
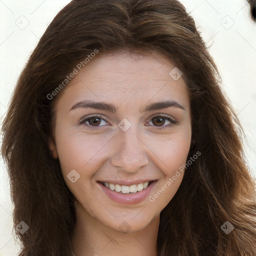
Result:
{"label": "bare skin of woman's face and neck, excluding eyes, brows and mouth", "polygon": [[[99,53],[61,91],[55,105],[54,140],[49,146],[76,198],[72,245],[77,256],[156,255],[159,215],[176,193],[183,173],[153,202],[146,197],[133,205],[113,201],[96,181],[157,179],[150,192],[154,195],[186,162],[191,141],[189,95],[182,76],[174,80],[169,75],[174,67],[157,52]],[[85,99],[112,103],[117,111],[70,110]],[[170,106],[138,112],[149,103],[167,99],[185,110]],[[94,126],[92,120],[78,124],[90,114],[100,114],[103,119]],[[152,118],[157,114],[172,117],[177,124],[161,130],[159,127],[171,122],[157,122]],[[125,132],[118,127],[123,118],[131,123]],[[97,129],[92,129],[95,125]],[[74,183],[67,178],[72,169],[80,175]],[[120,230],[121,223],[129,228]]]}

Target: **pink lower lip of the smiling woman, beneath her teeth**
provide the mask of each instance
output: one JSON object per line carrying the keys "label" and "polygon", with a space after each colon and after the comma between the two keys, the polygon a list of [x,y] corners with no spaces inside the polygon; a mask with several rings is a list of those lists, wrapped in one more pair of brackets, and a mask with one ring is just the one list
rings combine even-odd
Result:
{"label": "pink lower lip of the smiling woman, beneath her teeth", "polygon": [[139,203],[141,201],[143,201],[148,194],[150,193],[150,191],[152,190],[154,184],[156,183],[157,180],[153,181],[149,186],[147,186],[147,188],[138,191],[136,193],[119,193],[116,192],[114,190],[111,190],[107,187],[105,187],[103,184],[101,184],[100,182],[97,182],[99,184],[99,186],[101,187],[101,189],[114,201],[118,202],[118,203],[123,203],[123,204],[136,204]]}

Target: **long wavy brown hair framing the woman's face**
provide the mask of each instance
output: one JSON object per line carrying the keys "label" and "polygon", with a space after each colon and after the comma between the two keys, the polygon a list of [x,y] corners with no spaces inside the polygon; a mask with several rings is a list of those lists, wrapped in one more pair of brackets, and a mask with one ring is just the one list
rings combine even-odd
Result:
{"label": "long wavy brown hair framing the woman's face", "polygon": [[[59,94],[47,95],[95,49],[122,48],[159,51],[182,71],[192,114],[187,159],[201,152],[160,213],[158,255],[255,256],[255,180],[243,131],[193,18],[177,0],[73,0],[40,38],[2,125],[14,227],[29,226],[24,234],[15,228],[19,256],[70,256],[72,250],[74,198],[48,147]],[[233,229],[227,234],[223,224]]]}

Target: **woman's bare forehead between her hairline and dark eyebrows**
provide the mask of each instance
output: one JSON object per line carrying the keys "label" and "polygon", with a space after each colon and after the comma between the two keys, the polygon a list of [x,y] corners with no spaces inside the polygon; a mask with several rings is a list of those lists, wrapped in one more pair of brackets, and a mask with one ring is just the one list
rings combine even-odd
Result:
{"label": "woman's bare forehead between her hairline and dark eyebrows", "polygon": [[175,65],[158,52],[98,54],[66,85],[60,100],[71,104],[92,99],[135,106],[148,100],[174,99],[188,107],[187,86],[182,76],[172,78],[173,68]]}

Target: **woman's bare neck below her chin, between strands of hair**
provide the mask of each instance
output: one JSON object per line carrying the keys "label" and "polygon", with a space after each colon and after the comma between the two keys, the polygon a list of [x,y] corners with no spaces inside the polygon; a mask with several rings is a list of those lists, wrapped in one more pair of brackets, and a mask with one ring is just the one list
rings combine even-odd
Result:
{"label": "woman's bare neck below her chin, between strands of hair", "polygon": [[76,204],[76,223],[72,234],[75,256],[156,256],[160,216],[143,229],[121,232],[93,218]]}

